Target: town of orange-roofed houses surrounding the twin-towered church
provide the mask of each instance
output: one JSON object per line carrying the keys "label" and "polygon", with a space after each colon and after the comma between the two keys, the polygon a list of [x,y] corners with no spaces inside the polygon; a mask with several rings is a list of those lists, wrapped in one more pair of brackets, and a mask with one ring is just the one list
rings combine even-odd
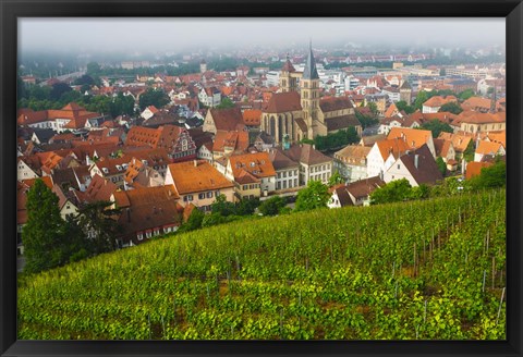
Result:
{"label": "town of orange-roofed houses surrounding the twin-towered church", "polygon": [[[331,56],[309,42],[227,69],[185,54],[171,67],[179,74],[149,60],[45,77],[23,67],[19,255],[37,178],[64,221],[108,202],[120,226],[114,248],[175,232],[219,202],[278,197],[291,210],[315,182],[336,209],[368,206],[376,189],[403,178],[412,187],[470,180],[506,155],[504,62],[482,56],[438,64],[449,57]],[[95,238],[94,226],[84,229]]]}

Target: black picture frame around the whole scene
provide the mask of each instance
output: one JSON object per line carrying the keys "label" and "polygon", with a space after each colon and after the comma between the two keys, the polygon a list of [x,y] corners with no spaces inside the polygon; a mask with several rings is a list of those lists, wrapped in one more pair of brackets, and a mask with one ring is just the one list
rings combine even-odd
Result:
{"label": "black picture frame around the whole scene", "polygon": [[[522,356],[523,4],[521,0],[0,0],[0,354],[1,356]],[[16,340],[17,17],[416,16],[507,21],[507,341],[486,342],[57,342]],[[437,29],[435,30],[437,33]]]}

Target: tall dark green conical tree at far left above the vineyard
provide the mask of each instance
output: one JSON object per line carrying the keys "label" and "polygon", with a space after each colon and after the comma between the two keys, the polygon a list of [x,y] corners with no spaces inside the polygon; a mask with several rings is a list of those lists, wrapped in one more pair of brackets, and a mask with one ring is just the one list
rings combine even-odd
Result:
{"label": "tall dark green conical tree at far left above the vineyard", "polygon": [[37,178],[27,193],[27,224],[22,239],[26,257],[25,271],[40,272],[64,262],[61,238],[64,222],[58,208],[58,196]]}

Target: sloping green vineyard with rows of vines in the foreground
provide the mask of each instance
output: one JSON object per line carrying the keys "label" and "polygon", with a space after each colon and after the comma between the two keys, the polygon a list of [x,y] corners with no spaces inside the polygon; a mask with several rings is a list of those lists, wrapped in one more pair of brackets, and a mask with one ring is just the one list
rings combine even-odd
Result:
{"label": "sloping green vineyard with rows of vines in the foreground", "polygon": [[293,213],[20,279],[21,340],[503,340],[506,192]]}

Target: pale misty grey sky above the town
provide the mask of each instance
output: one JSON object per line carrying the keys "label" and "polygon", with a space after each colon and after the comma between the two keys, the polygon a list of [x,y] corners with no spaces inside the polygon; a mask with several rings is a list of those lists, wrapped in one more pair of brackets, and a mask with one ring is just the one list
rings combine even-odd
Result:
{"label": "pale misty grey sky above the town", "polygon": [[233,45],[325,42],[504,48],[504,17],[489,19],[21,19],[26,50],[169,51]]}

